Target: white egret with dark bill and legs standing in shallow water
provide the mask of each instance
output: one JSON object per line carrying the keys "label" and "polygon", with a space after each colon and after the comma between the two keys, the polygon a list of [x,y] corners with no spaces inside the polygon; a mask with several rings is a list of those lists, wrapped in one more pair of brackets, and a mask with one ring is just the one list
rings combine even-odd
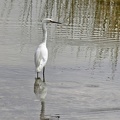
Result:
{"label": "white egret with dark bill and legs standing in shallow water", "polygon": [[48,60],[48,49],[46,46],[47,43],[47,24],[49,23],[57,23],[61,24],[60,22],[56,22],[51,18],[45,18],[42,20],[42,30],[43,30],[43,40],[42,43],[38,46],[34,54],[34,63],[35,69],[37,72],[37,78],[39,78],[39,72],[43,70],[43,81],[45,82],[45,65]]}

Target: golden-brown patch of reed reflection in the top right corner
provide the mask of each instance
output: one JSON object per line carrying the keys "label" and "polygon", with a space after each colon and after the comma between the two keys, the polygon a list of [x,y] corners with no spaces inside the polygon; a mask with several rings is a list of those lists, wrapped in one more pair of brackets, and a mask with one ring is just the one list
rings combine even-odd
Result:
{"label": "golden-brown patch of reed reflection in the top right corner", "polygon": [[96,6],[94,25],[99,34],[119,40],[119,0],[97,0]]}

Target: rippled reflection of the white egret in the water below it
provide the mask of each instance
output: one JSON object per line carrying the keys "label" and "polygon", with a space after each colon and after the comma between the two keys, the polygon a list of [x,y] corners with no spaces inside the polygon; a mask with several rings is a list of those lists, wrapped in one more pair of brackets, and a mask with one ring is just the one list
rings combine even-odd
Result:
{"label": "rippled reflection of the white egret in the water below it", "polygon": [[45,82],[42,81],[41,78],[35,78],[34,93],[41,102],[40,120],[59,120],[60,118],[59,115],[54,116],[45,115],[45,98],[47,95],[47,85]]}

